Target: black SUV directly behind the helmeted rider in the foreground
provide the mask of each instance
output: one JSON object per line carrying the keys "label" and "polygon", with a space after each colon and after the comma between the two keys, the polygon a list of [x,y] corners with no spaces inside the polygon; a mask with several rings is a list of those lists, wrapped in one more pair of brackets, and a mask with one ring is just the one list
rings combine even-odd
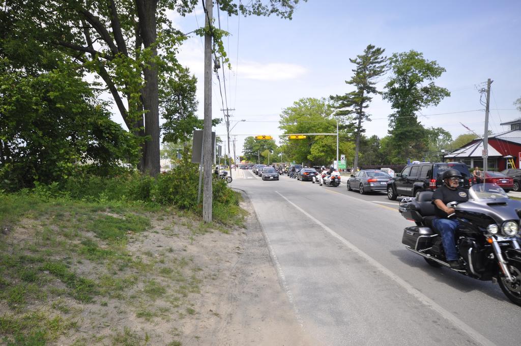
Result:
{"label": "black SUV directly behind the helmeted rider in the foreground", "polygon": [[441,175],[447,169],[456,169],[463,176],[460,186],[468,189],[472,175],[466,164],[462,162],[432,163],[422,162],[405,167],[401,173],[387,182],[387,197],[394,201],[396,197],[417,197],[421,191],[434,191],[442,186]]}

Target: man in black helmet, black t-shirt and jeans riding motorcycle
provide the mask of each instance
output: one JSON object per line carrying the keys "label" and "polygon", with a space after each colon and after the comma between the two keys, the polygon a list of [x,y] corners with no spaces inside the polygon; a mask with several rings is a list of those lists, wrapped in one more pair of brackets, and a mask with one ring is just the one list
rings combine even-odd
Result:
{"label": "man in black helmet, black t-shirt and jeans riding motorcycle", "polygon": [[432,204],[436,206],[436,219],[432,220],[432,226],[441,234],[445,258],[453,269],[463,269],[458,261],[458,254],[454,240],[459,221],[449,219],[454,213],[454,208],[446,206],[450,202],[467,202],[468,190],[460,187],[462,175],[456,169],[448,169],[443,172],[443,186],[432,194]]}

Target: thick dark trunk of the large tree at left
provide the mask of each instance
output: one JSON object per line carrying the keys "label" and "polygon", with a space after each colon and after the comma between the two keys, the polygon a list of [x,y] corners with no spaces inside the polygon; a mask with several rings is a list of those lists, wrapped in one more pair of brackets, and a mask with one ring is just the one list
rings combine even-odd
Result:
{"label": "thick dark trunk of the large tree at left", "polygon": [[143,108],[145,111],[145,136],[150,136],[144,148],[144,166],[142,171],[155,177],[159,174],[159,93],[157,56],[156,9],[157,0],[136,0],[139,27],[143,45],[150,48],[152,55],[143,69],[145,85],[143,87]]}

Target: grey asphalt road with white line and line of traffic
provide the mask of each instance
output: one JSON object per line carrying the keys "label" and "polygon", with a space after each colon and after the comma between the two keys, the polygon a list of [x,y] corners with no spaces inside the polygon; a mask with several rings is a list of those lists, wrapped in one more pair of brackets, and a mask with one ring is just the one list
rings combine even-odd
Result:
{"label": "grey asphalt road with white line and line of traffic", "polygon": [[433,268],[384,193],[234,171],[303,329],[324,345],[518,345],[521,307],[498,285]]}

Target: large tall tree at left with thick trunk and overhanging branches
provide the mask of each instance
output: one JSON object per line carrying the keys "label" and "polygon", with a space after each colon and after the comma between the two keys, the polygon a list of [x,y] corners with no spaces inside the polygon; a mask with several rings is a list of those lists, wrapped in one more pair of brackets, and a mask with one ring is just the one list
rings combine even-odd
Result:
{"label": "large tall tree at left with thick trunk and overhanging branches", "polygon": [[[306,0],[303,0],[306,1]],[[1,53],[31,55],[31,51],[61,51],[101,78],[129,131],[142,139],[140,168],[159,172],[159,109],[162,90],[180,70],[177,49],[187,36],[168,19],[170,11],[186,15],[198,0],[9,0],[0,17],[5,46]],[[299,0],[220,0],[228,15],[269,16],[291,19]],[[4,30],[5,26],[9,28]],[[216,54],[226,55],[221,43],[225,32],[202,28],[214,37]],[[28,45],[29,42],[29,45]],[[3,45],[4,45],[3,43]],[[20,54],[16,47],[22,48]],[[22,66],[29,68],[30,66]]]}

